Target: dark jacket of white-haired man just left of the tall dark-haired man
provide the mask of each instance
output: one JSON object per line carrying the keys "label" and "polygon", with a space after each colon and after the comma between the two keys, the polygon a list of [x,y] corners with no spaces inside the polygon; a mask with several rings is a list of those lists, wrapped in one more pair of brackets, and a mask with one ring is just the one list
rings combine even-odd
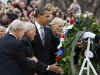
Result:
{"label": "dark jacket of white-haired man just left of the tall dark-haired man", "polygon": [[[22,42],[23,42],[24,47],[26,48],[26,52],[25,52],[27,53],[26,57],[33,57],[34,50],[32,48],[31,40],[25,35],[22,38]],[[26,63],[30,65],[26,65],[22,68],[24,75],[33,75],[34,72],[44,72],[46,71],[46,68],[47,68],[47,65],[41,62],[35,63],[34,61],[28,60]]]}

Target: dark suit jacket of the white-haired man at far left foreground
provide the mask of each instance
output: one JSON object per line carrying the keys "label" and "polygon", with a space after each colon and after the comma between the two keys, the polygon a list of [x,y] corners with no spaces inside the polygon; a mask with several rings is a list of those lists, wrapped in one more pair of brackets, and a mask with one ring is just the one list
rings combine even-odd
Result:
{"label": "dark suit jacket of the white-haired man at far left foreground", "polygon": [[19,65],[24,63],[22,44],[11,34],[0,39],[0,75],[22,75]]}

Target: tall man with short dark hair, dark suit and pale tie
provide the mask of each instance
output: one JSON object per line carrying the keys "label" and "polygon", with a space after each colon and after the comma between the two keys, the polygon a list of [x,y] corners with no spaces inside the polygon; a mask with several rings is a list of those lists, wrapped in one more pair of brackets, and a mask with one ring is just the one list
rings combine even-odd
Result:
{"label": "tall man with short dark hair, dark suit and pale tie", "polygon": [[[58,39],[53,35],[51,29],[46,26],[48,24],[50,12],[46,9],[40,10],[37,19],[34,23],[36,27],[36,36],[32,41],[34,54],[40,62],[48,65],[47,70],[55,64],[55,53],[57,45],[59,44]],[[55,69],[55,72],[59,72],[60,67]],[[54,72],[46,71],[39,72],[39,75],[56,75]]]}

